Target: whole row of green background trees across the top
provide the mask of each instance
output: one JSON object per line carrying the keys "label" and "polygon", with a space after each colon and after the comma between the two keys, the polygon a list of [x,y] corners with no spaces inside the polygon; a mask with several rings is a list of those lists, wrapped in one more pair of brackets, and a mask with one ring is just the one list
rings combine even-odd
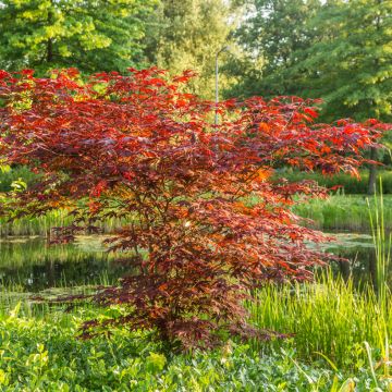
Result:
{"label": "whole row of green background trees across the top", "polygon": [[390,0],[2,0],[0,66],[193,69],[213,96],[322,98],[326,120],[391,119]]}

